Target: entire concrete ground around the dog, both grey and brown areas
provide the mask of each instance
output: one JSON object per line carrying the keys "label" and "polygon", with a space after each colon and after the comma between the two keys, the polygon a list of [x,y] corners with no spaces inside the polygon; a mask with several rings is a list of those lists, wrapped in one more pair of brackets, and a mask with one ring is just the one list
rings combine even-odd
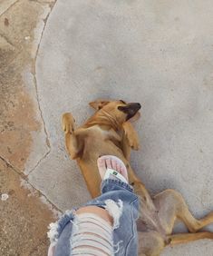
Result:
{"label": "entire concrete ground around the dog, both grey and brown areas", "polygon": [[[92,114],[88,103],[105,97],[142,105],[135,124],[141,148],[132,153],[131,164],[151,194],[176,189],[195,216],[213,210],[212,1],[2,3],[0,173],[12,188],[0,187],[9,195],[1,206],[15,208],[10,199],[16,200],[18,214],[26,212],[29,221],[28,209],[36,205],[42,211],[32,222],[40,223],[44,234],[54,218],[48,207],[63,212],[90,199],[65,152],[61,115],[71,111],[81,124]],[[24,210],[16,190],[27,194],[29,186],[37,195],[27,199],[38,204],[24,200]],[[15,209],[1,211],[4,220],[14,219]],[[4,231],[17,232],[7,222]],[[3,238],[3,255],[15,255],[6,252],[10,243]],[[18,255],[44,255],[43,238],[38,231],[35,254]],[[169,247],[161,255],[213,255],[213,241]]]}

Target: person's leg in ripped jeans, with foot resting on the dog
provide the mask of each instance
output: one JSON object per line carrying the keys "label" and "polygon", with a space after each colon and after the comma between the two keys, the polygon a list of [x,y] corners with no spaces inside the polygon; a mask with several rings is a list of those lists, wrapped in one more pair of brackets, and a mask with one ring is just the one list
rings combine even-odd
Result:
{"label": "person's leg in ripped jeans, with foot resting on the dog", "polygon": [[[128,181],[127,171],[121,160],[112,156],[103,156],[99,158],[97,164],[102,179],[104,179],[107,169],[112,169],[121,173],[124,180]],[[54,256],[75,255],[75,253],[89,255],[89,251],[93,255],[114,255],[113,241],[117,241],[114,242],[114,245],[117,245],[117,251],[123,253],[123,250],[129,250],[132,252],[131,245],[133,244],[133,251],[137,253],[137,235],[133,222],[137,218],[137,211],[134,211],[138,207],[137,197],[135,195],[132,197],[130,186],[121,182],[116,175],[110,174],[108,176],[110,179],[102,182],[104,198],[102,198],[102,194],[97,200],[88,202],[87,206],[75,212],[72,224],[67,224],[59,237]],[[117,196],[114,196],[114,190],[117,191]],[[109,192],[111,192],[111,195]],[[113,197],[117,199],[117,202],[113,200]],[[106,210],[103,208],[106,208]],[[124,208],[127,211],[121,212]],[[133,215],[134,217],[132,217]],[[120,217],[123,220],[122,222],[125,222],[125,227],[128,228],[125,233],[123,233],[125,227],[119,226]],[[68,240],[67,237],[70,239]],[[123,240],[122,237],[124,237]],[[126,241],[129,241],[129,249],[125,244]],[[136,248],[134,248],[134,245]],[[72,251],[72,254],[68,251]],[[116,255],[122,254],[117,253]],[[137,254],[131,253],[131,255]]]}

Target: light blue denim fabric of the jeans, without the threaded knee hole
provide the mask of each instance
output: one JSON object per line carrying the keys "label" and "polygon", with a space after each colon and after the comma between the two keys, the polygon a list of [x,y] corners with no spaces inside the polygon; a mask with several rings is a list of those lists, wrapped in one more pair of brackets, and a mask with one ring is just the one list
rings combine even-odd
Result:
{"label": "light blue denim fabric of the jeans, without the threaded knee hole", "polygon": [[[83,206],[96,205],[104,208],[106,200],[122,202],[122,213],[119,226],[113,230],[114,255],[116,256],[136,256],[138,255],[138,234],[136,220],[139,217],[139,199],[133,192],[131,185],[120,180],[107,179],[102,182],[102,195],[94,200],[85,203]],[[54,241],[56,242],[53,256],[71,256],[70,248],[74,212],[65,212],[56,223]]]}

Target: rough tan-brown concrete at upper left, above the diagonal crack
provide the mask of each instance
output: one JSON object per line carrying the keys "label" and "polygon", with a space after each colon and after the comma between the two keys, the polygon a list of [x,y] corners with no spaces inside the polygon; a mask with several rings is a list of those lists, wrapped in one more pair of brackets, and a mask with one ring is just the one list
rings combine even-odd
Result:
{"label": "rough tan-brown concrete at upper left, above the diagonal crack", "polygon": [[[0,54],[3,64],[5,61],[0,70],[0,155],[20,172],[25,169],[26,174],[49,152],[32,75],[32,51],[35,57],[44,18],[49,12],[48,4],[21,0],[0,17],[0,43],[4,46],[1,48],[3,54],[1,51]],[[5,19],[8,21],[6,26]],[[40,21],[42,27],[37,25]]]}

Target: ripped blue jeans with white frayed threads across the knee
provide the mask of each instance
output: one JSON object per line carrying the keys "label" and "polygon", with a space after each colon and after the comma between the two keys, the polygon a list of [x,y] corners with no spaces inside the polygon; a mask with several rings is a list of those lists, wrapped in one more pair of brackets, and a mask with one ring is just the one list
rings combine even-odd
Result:
{"label": "ripped blue jeans with white frayed threads across the knee", "polygon": [[[75,215],[77,208],[66,211],[58,222],[50,224],[49,253],[54,249],[53,256],[138,255],[138,196],[133,192],[131,185],[114,179],[102,181],[101,191],[101,196],[82,206],[96,205],[106,209],[113,219],[113,226],[90,213],[82,214],[82,218],[79,218]],[[88,223],[94,233],[96,231],[96,235],[88,233],[88,237],[85,238],[81,234],[83,229],[88,232]],[[78,227],[81,227],[80,230]],[[105,233],[104,237],[107,237],[107,240],[102,238],[102,233]]]}

